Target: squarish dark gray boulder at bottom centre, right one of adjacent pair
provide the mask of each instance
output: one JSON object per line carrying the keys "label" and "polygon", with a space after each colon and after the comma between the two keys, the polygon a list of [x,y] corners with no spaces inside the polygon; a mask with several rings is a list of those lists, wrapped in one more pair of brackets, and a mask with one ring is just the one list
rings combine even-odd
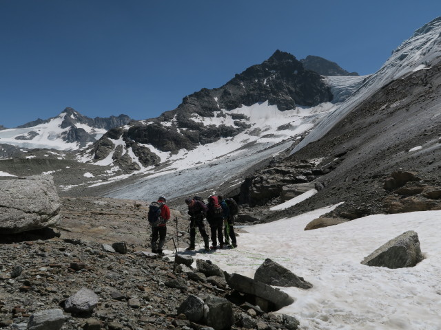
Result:
{"label": "squarish dark gray boulder at bottom centre, right one of adjacent pair", "polygon": [[208,295],[204,299],[204,322],[214,330],[231,329],[234,324],[233,305],[225,298]]}

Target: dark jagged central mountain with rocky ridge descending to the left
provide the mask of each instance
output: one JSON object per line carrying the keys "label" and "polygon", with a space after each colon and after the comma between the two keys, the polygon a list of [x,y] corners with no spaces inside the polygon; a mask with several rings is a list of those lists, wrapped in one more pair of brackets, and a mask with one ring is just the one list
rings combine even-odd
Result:
{"label": "dark jagged central mountain with rocky ridge descending to the left", "polygon": [[[112,158],[122,159],[127,168],[139,168],[130,162],[128,149],[143,166],[157,165],[159,157],[145,145],[158,151],[177,153],[208,144],[220,137],[231,137],[249,127],[244,115],[229,113],[242,105],[268,101],[278,109],[294,109],[296,105],[314,106],[333,98],[329,87],[316,72],[303,67],[291,54],[276,51],[267,61],[253,65],[228,83],[216,89],[201,89],[186,96],[179,106],[158,118],[141,121],[129,129],[113,129],[88,151],[95,161],[104,159],[119,148]],[[234,125],[204,125],[198,118],[231,116]],[[123,140],[116,146],[112,140]]]}

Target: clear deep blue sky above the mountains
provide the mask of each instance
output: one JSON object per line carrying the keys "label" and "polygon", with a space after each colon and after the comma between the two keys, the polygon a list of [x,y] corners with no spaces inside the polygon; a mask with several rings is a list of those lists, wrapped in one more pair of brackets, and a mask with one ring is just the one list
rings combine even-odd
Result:
{"label": "clear deep blue sky above the mountains", "polygon": [[0,0],[0,124],[153,118],[275,50],[376,72],[441,1]]}

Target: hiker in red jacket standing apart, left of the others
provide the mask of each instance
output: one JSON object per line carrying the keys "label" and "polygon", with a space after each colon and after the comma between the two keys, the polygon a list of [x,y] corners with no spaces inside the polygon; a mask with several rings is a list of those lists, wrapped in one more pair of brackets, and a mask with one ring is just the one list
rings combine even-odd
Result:
{"label": "hiker in red jacket standing apart, left of the others", "polygon": [[[164,196],[158,197],[158,201],[150,204],[148,220],[152,225],[152,252],[162,254],[167,235],[167,221],[170,219],[170,208],[165,205],[167,200]],[[156,243],[156,241],[159,242]]]}

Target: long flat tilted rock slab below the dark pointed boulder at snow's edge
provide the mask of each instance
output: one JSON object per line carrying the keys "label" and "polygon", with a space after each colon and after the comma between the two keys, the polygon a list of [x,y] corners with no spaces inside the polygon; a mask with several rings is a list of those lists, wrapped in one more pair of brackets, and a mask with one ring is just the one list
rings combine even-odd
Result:
{"label": "long flat tilted rock slab below the dark pointed boulder at snow's edge", "polygon": [[[276,309],[281,309],[282,307],[294,303],[294,299],[288,294],[285,294],[285,292],[274,289],[274,287],[271,287],[265,283],[255,281],[247,276],[233,273],[232,276],[229,277],[227,283],[229,287],[238,292],[243,292],[244,294],[250,294],[252,296],[267,300],[269,303],[274,305],[274,308]],[[263,309],[262,306],[260,307]]]}

